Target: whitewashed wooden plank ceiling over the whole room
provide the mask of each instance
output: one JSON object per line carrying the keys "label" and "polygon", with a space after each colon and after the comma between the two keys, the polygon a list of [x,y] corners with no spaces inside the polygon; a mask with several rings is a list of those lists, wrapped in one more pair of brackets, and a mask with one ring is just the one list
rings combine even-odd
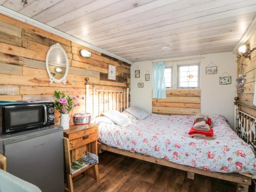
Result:
{"label": "whitewashed wooden plank ceiling over the whole room", "polygon": [[[0,0],[131,61],[232,51],[256,0]],[[166,47],[166,49],[163,49]]]}

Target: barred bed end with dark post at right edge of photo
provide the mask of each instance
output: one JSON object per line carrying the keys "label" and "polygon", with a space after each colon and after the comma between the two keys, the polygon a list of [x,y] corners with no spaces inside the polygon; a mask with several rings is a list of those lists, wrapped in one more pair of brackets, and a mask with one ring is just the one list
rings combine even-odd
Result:
{"label": "barred bed end with dark post at right edge of photo", "polygon": [[234,100],[234,132],[245,142],[251,144],[256,152],[256,117],[241,110],[241,107],[246,107],[256,111],[256,107],[240,103],[238,97],[235,97]]}

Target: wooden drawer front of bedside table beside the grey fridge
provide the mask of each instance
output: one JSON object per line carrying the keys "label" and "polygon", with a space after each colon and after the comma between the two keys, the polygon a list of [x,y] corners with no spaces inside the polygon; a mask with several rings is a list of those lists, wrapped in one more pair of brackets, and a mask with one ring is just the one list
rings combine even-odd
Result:
{"label": "wooden drawer front of bedside table beside the grey fridge", "polygon": [[91,142],[97,142],[98,140],[98,132],[91,134],[91,135],[84,135],[83,137],[71,140],[69,142],[70,150],[73,150],[74,148],[80,147],[82,145],[86,145]]}

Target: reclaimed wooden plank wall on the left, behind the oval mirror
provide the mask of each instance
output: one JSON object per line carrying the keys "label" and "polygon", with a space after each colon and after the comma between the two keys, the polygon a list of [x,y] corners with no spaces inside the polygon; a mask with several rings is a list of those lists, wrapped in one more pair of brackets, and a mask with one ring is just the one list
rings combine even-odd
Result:
{"label": "reclaimed wooden plank wall on the left, behind the oval mirror", "polygon": [[[66,50],[69,59],[66,85],[62,83],[49,84],[45,67],[46,53],[49,47],[56,42],[59,42]],[[91,51],[92,57],[80,57],[80,49]],[[117,67],[116,81],[106,78],[109,64]],[[86,77],[90,78],[91,83],[105,85],[96,87],[96,89],[119,90],[119,88],[109,87],[109,85],[126,86],[127,81],[130,82],[130,68],[131,66],[125,62],[0,14],[0,100],[52,100],[54,90],[72,96],[85,97],[84,79]],[[6,90],[7,85],[11,86],[9,91]],[[3,92],[4,90],[5,92]],[[92,95],[92,86],[90,94]],[[101,98],[103,108],[103,96]],[[108,104],[109,100],[112,103],[111,99],[112,97],[106,98],[105,103]],[[91,112],[92,106],[89,108]],[[96,109],[98,108],[96,107]],[[73,109],[70,115],[84,111],[85,103],[83,101],[79,107]],[[56,117],[58,116],[59,114],[56,114]],[[56,119],[56,123],[58,123],[58,118]]]}

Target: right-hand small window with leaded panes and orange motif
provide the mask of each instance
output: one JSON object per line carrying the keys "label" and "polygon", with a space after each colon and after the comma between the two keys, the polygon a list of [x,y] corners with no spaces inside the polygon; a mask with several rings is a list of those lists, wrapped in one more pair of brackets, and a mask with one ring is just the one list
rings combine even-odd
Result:
{"label": "right-hand small window with leaded panes and orange motif", "polygon": [[199,65],[178,66],[178,88],[199,87]]}

